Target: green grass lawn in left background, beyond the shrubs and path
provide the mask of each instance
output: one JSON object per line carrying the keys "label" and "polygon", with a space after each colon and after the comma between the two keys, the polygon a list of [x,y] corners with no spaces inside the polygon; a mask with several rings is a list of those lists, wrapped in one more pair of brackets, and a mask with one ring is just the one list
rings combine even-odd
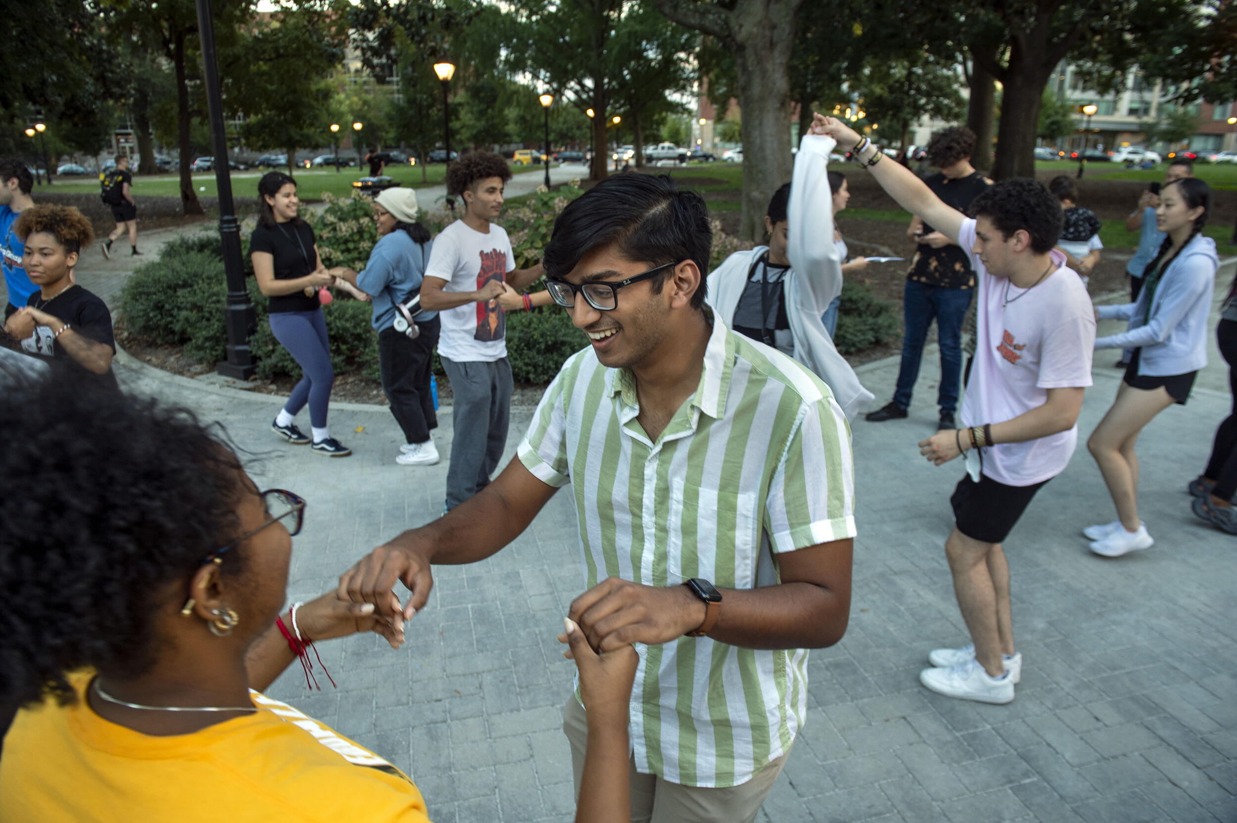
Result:
{"label": "green grass lawn in left background, beyond the shrubs and path", "polygon": [[[249,169],[247,172],[233,172],[233,195],[238,198],[256,198],[257,182],[268,169]],[[287,169],[276,169],[287,171]],[[512,166],[513,174],[524,172],[541,172],[541,166]],[[408,188],[422,188],[426,185],[439,185],[447,172],[443,163],[430,163],[424,167],[427,180],[422,180],[421,166],[387,166],[383,173],[392,179],[400,180]],[[364,169],[356,167],[340,169],[336,174],[334,167],[329,169],[297,169],[293,177],[301,190],[301,195],[309,200],[317,200],[323,192],[330,192],[335,196],[348,196],[353,190],[353,180],[365,175]],[[198,189],[199,196],[215,196],[214,172],[203,172],[193,175],[193,185]],[[99,192],[99,180],[94,177],[56,178],[51,188],[52,192]],[[134,178],[134,194],[167,195],[176,196],[181,193],[181,180],[177,174],[158,174]]]}

